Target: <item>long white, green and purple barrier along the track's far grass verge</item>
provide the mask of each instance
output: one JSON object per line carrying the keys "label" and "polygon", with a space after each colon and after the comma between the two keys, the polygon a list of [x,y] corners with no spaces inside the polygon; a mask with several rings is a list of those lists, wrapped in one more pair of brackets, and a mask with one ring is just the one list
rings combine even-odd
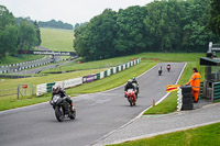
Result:
{"label": "long white, green and purple barrier along the track's far grass verge", "polygon": [[69,79],[69,80],[65,80],[65,81],[56,81],[56,82],[52,82],[52,83],[37,85],[36,86],[36,96],[42,96],[43,93],[51,92],[52,87],[54,85],[59,85],[63,89],[66,89],[66,88],[79,86],[79,85],[82,85],[82,83],[86,83],[86,82],[88,83],[88,82],[91,82],[91,81],[95,81],[95,80],[103,79],[108,76],[111,76],[111,75],[117,74],[119,71],[125,70],[127,68],[129,68],[131,66],[136,65],[135,63],[136,64],[141,63],[141,58],[125,63],[123,65],[119,65],[119,66],[110,68],[106,71],[101,71],[99,74],[79,77],[79,78],[75,78],[75,79]]}

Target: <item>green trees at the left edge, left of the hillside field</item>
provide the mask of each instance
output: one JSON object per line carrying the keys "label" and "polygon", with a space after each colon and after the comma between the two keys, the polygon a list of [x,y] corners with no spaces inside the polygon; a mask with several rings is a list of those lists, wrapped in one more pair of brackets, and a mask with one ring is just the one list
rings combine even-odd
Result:
{"label": "green trees at the left edge, left of the hillside field", "polygon": [[18,55],[18,49],[33,49],[41,44],[38,24],[22,19],[16,21],[9,10],[0,5],[0,59],[10,54]]}

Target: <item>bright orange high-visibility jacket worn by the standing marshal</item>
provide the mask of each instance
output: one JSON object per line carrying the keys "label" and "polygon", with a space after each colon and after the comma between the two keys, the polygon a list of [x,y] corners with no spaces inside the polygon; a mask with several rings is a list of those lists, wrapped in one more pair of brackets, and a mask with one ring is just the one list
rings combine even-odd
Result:
{"label": "bright orange high-visibility jacket worn by the standing marshal", "polygon": [[199,91],[200,78],[201,78],[200,74],[199,72],[195,72],[195,74],[191,75],[191,78],[189,79],[187,85],[190,83],[193,90]]}

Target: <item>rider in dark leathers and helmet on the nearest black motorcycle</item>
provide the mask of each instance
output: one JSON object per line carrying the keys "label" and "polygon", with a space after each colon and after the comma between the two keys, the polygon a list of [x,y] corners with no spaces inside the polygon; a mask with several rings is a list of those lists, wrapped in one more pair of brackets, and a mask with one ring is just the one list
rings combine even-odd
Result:
{"label": "rider in dark leathers and helmet on the nearest black motorcycle", "polygon": [[53,86],[53,88],[52,88],[52,98],[53,98],[55,94],[59,94],[61,98],[66,97],[65,100],[70,104],[70,109],[73,109],[73,101],[72,101],[72,99],[66,94],[66,91],[63,90],[63,89],[61,88],[61,86],[58,86],[58,85],[55,85],[55,86]]}

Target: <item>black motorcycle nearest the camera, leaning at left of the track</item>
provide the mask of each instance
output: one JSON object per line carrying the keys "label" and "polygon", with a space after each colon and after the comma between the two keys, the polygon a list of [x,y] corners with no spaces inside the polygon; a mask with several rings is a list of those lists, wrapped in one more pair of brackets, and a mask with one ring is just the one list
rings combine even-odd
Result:
{"label": "black motorcycle nearest the camera, leaning at left of the track", "polygon": [[75,108],[73,106],[72,109],[65,98],[61,98],[59,94],[55,94],[50,103],[53,105],[58,122],[63,122],[65,117],[69,117],[70,120],[76,117]]}

